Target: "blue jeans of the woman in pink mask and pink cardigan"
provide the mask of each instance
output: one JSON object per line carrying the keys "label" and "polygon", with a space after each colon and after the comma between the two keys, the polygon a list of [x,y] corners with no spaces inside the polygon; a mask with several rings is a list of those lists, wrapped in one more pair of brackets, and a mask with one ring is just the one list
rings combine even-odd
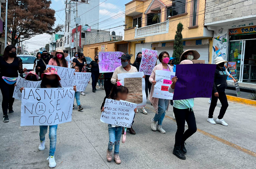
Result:
{"label": "blue jeans of the woman in pink mask and pink cardigan", "polygon": [[163,118],[165,118],[165,111],[167,109],[169,100],[159,99],[158,101],[158,114],[155,114],[154,121],[158,122],[158,125],[162,125]]}

